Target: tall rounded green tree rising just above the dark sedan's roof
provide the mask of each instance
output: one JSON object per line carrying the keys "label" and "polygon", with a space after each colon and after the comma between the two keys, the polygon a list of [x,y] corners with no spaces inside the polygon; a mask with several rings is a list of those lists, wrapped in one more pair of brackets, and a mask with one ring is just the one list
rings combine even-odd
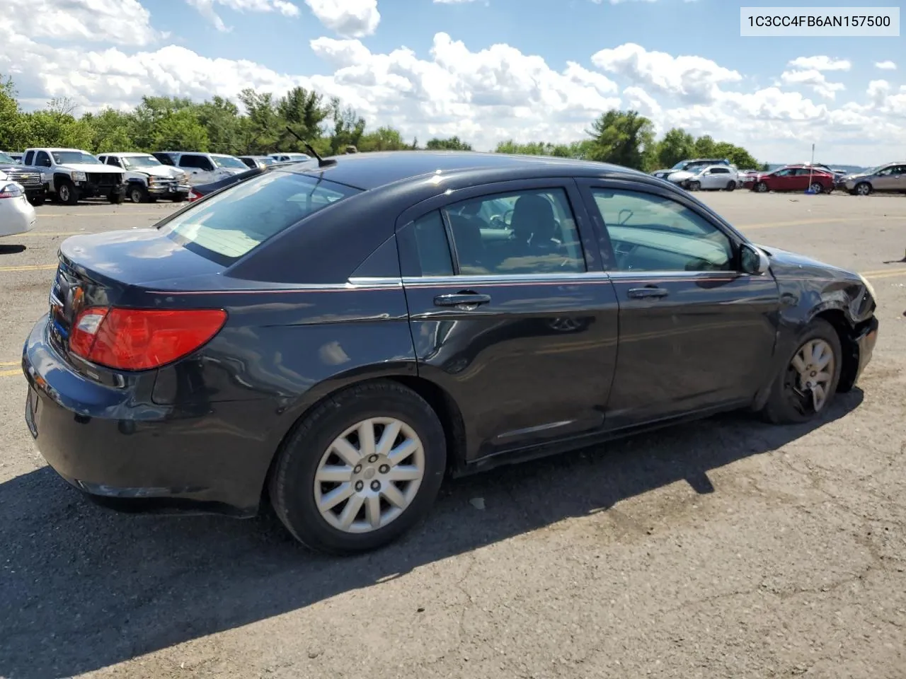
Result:
{"label": "tall rounded green tree rising just above the dark sedan's roof", "polygon": [[654,127],[637,111],[609,110],[588,131],[594,141],[590,158],[633,169],[644,169],[653,159]]}

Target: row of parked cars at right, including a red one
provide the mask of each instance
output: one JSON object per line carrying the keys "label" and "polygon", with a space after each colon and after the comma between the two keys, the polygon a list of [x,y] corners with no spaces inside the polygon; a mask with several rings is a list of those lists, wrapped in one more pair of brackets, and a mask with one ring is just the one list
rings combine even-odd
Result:
{"label": "row of parked cars at right, including a red one", "polygon": [[770,172],[739,170],[726,158],[682,160],[670,169],[651,173],[688,191],[747,188],[757,193],[767,191],[811,191],[831,193],[834,189],[853,196],[868,196],[875,191],[906,193],[906,162],[898,161],[874,167],[865,172],[847,174],[820,163],[800,163],[778,167]]}

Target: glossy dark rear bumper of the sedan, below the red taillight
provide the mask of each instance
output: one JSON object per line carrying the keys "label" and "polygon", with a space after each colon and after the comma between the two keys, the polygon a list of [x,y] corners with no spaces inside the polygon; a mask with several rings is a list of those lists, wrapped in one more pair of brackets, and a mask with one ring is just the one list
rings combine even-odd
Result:
{"label": "glossy dark rear bumper of the sedan, below the red taillight", "polygon": [[234,423],[255,408],[266,421],[265,401],[159,406],[134,385],[82,377],[46,328],[44,316],[23,349],[25,421],[63,479],[128,511],[257,512],[273,450]]}

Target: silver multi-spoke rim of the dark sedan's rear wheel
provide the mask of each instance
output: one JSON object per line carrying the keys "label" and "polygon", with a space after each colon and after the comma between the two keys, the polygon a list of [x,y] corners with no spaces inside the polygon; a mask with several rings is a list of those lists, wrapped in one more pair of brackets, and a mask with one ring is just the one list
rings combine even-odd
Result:
{"label": "silver multi-spoke rim of the dark sedan's rear wheel", "polygon": [[338,531],[377,531],[409,507],[424,476],[415,431],[393,417],[371,417],[328,446],[314,473],[314,502]]}

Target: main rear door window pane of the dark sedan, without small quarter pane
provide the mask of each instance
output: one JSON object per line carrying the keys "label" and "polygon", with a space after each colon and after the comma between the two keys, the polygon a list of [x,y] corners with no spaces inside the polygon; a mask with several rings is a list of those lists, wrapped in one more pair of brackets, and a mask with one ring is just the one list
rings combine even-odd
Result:
{"label": "main rear door window pane of the dark sedan, without small quarter pane", "polygon": [[462,275],[586,271],[562,188],[470,198],[445,212]]}

